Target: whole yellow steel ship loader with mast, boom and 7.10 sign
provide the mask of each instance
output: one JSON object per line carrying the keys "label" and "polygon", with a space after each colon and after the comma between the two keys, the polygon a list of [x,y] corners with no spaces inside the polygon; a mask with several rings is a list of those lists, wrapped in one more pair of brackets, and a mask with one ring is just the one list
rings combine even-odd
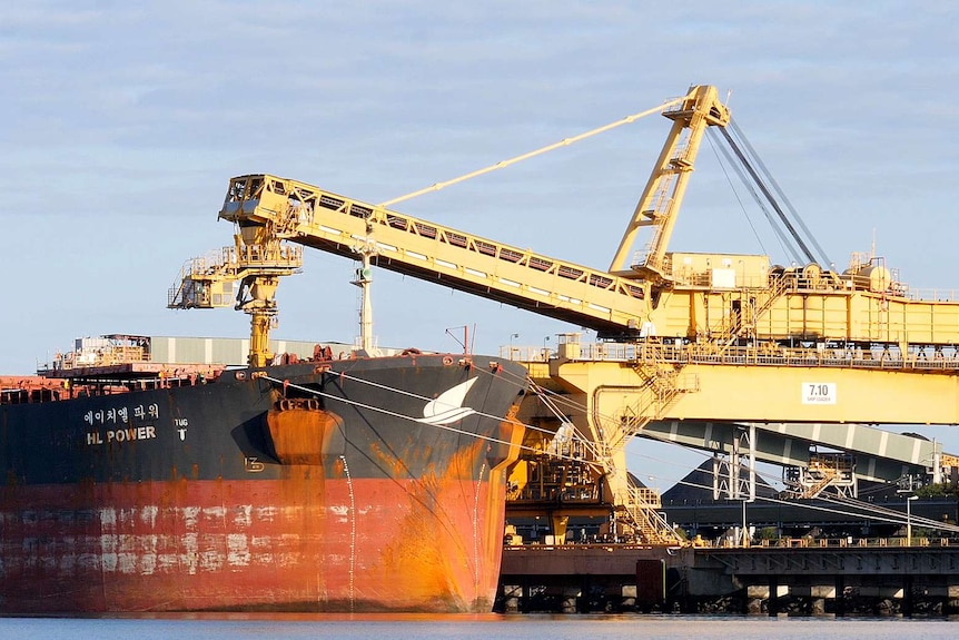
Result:
{"label": "whole yellow steel ship loader with mast, boom and 7.10 sign", "polygon": [[[248,311],[251,343],[263,344],[269,324],[264,311],[253,312],[273,308],[271,283],[298,265],[247,264],[240,249],[263,253],[286,240],[350,258],[369,247],[376,266],[595,329],[606,342],[561,336],[558,357],[532,373],[583,407],[566,417],[609,461],[606,496],[635,521],[655,502],[615,471],[625,469],[625,441],[651,421],[793,421],[830,430],[959,423],[959,301],[916,295],[874,256],[837,273],[815,262],[783,268],[764,255],[666,250],[703,131],[724,129],[730,115],[705,86],[662,114],[673,126],[609,270],[258,174],[231,179],[219,213],[240,229],[239,266],[230,256],[186,273],[184,282],[194,284],[181,285],[171,306],[211,306],[194,289],[240,278],[258,292]],[[646,252],[631,262],[645,227]],[[250,362],[265,355],[260,348]],[[725,446],[703,429],[703,449]],[[752,432],[744,427],[734,440],[735,454],[750,455]],[[531,469],[517,475],[526,486],[535,480]],[[655,539],[642,522],[640,529]]]}

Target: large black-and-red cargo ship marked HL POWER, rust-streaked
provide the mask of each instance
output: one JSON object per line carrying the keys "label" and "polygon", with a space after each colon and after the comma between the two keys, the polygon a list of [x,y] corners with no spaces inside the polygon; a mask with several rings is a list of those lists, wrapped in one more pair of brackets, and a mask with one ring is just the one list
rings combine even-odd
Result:
{"label": "large black-and-red cargo ship marked HL POWER, rust-streaked", "polygon": [[0,612],[492,609],[523,367],[118,348],[0,378]]}

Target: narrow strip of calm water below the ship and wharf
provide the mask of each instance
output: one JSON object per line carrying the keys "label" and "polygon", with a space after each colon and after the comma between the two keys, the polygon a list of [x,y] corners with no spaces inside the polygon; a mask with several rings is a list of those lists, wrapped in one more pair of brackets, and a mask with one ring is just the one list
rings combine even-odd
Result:
{"label": "narrow strip of calm water below the ship and wharf", "polygon": [[0,619],[0,640],[953,640],[947,620],[700,616],[169,616]]}

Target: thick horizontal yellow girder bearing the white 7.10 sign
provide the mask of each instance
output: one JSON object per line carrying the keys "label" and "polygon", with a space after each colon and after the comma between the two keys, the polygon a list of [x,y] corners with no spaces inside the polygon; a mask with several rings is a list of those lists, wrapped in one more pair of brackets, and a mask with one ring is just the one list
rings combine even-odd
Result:
{"label": "thick horizontal yellow girder bearing the white 7.10 sign", "polygon": [[[637,362],[567,361],[553,374],[590,394],[594,422],[654,420],[959,424],[956,370],[762,364],[759,354],[683,364],[674,396],[660,402]],[[706,358],[704,358],[706,360]],[[736,362],[739,361],[739,362]],[[955,364],[953,364],[955,366]]]}

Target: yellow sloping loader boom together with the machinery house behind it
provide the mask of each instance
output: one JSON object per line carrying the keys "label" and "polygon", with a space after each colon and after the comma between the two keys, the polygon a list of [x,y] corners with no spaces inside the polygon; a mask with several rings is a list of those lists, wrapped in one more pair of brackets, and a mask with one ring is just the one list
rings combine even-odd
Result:
{"label": "yellow sloping loader boom together with the machinery house behind it", "polygon": [[837,274],[818,265],[770,267],[765,256],[675,253],[656,267],[661,278],[637,280],[269,175],[235,178],[220,216],[348,257],[374,242],[377,266],[601,335],[718,345],[882,343],[902,353],[959,344],[959,301],[922,299],[877,280],[870,264]]}

